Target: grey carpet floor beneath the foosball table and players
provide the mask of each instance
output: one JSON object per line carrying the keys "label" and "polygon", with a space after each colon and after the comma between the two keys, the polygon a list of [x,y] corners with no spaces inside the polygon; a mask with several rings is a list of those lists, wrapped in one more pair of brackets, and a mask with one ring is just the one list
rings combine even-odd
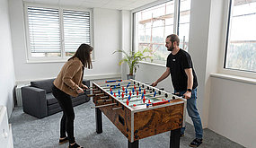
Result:
{"label": "grey carpet floor beneath the foosball table and players", "polygon": [[[119,132],[104,115],[103,133],[98,135],[95,132],[95,110],[91,101],[75,107],[75,140],[77,144],[84,148],[126,148],[128,146],[127,138]],[[49,116],[47,118],[33,118],[25,114],[21,107],[13,110],[9,122],[13,128],[14,148],[52,148],[67,147],[66,144],[58,144],[59,121],[62,112]],[[194,139],[194,128],[186,124],[185,136],[181,137],[181,148],[189,148],[190,142]],[[160,135],[154,135],[139,141],[141,148],[167,148],[170,142],[170,132]],[[204,129],[204,141],[200,148],[242,148],[240,144],[217,135],[215,132]]]}

